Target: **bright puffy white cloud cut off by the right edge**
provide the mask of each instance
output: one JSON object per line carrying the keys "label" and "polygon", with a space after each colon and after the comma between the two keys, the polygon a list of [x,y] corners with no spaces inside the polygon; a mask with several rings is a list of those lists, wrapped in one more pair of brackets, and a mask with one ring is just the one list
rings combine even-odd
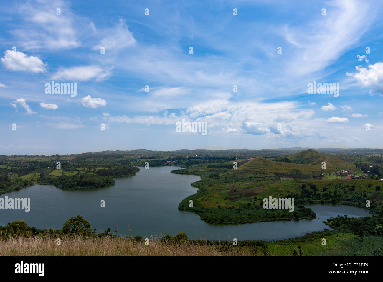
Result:
{"label": "bright puffy white cloud cut off by the right edge", "polygon": [[346,73],[350,78],[355,78],[358,84],[379,93],[383,92],[383,63],[378,62],[367,68],[356,66],[357,73]]}

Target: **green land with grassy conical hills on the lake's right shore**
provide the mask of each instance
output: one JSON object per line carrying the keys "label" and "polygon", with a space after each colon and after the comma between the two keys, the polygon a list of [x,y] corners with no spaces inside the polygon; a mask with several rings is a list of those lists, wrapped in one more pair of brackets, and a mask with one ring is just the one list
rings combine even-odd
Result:
{"label": "green land with grassy conical hills on the lake's right shore", "polygon": [[[323,160],[327,162],[327,167],[321,171]],[[221,167],[191,166],[173,171],[201,176],[200,181],[192,183],[198,191],[184,199],[178,208],[196,212],[201,219],[216,224],[314,218],[315,214],[311,210],[301,208],[301,205],[314,203],[366,208],[368,200],[368,208],[382,214],[381,182],[365,179],[364,173],[354,164],[336,157],[308,150],[270,160],[257,157],[244,162],[238,169],[229,168],[229,165],[232,162],[223,163]],[[360,178],[345,180],[331,173],[346,168],[353,168]],[[300,208],[294,212],[286,209],[264,210],[262,199],[269,196],[294,198],[295,205]],[[193,207],[189,206],[190,200],[193,201]]]}

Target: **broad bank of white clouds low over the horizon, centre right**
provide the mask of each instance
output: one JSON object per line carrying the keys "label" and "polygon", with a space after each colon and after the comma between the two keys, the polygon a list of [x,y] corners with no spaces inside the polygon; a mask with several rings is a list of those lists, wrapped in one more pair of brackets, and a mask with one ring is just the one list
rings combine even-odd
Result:
{"label": "broad bank of white clouds low over the horizon, centre right", "polygon": [[[300,139],[305,137],[323,138],[318,128],[312,126],[313,110],[299,109],[297,102],[263,103],[257,101],[234,102],[228,99],[213,99],[192,104],[180,115],[174,112],[168,115],[126,115],[104,116],[106,122],[124,122],[127,124],[175,124],[182,119],[206,121],[209,128],[219,128],[225,134],[252,134],[278,136],[282,139]],[[310,124],[309,124],[310,122]],[[278,123],[282,130],[278,130]],[[318,127],[323,121],[316,122]]]}

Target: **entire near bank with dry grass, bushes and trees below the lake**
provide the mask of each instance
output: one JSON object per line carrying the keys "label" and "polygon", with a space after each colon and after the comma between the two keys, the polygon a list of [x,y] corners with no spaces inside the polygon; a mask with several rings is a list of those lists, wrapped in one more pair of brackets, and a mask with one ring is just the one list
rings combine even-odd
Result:
{"label": "entire near bank with dry grass, bushes and trees below the lake", "polygon": [[[237,246],[230,240],[192,241],[184,232],[151,238],[146,245],[141,236],[119,238],[110,228],[93,233],[81,215],[68,219],[62,230],[31,228],[18,220],[0,226],[0,255],[383,255],[381,222],[376,218],[339,216],[329,219],[329,225],[336,229],[278,241],[238,241]],[[57,238],[59,245],[52,244]],[[323,239],[326,245],[321,244]]]}

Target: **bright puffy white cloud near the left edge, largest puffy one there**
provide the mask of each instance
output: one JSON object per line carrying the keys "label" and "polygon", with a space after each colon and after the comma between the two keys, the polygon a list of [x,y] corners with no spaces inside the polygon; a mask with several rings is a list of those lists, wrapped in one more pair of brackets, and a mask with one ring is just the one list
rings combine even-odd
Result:
{"label": "bright puffy white cloud near the left edge, largest puffy one there", "polygon": [[32,73],[42,73],[45,71],[46,64],[39,58],[29,56],[20,51],[7,50],[1,61],[5,69],[11,71],[31,71]]}

